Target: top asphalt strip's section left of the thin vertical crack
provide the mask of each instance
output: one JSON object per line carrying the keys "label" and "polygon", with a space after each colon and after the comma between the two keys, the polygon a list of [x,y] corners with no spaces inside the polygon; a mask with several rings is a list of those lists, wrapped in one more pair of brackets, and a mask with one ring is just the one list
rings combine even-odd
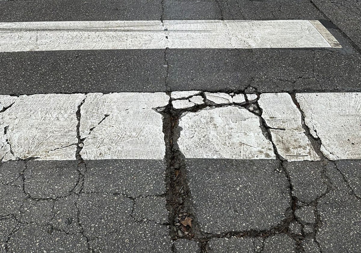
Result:
{"label": "top asphalt strip's section left of the thin vertical crack", "polygon": [[157,0],[0,1],[0,22],[159,20]]}

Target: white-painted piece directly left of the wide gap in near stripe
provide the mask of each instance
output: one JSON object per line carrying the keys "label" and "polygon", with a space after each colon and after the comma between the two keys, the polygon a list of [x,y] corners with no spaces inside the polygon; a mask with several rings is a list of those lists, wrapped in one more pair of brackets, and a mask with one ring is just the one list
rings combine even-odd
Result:
{"label": "white-painted piece directly left of the wide gap in near stripe", "polygon": [[[90,93],[81,107],[83,159],[163,159],[165,93]],[[109,115],[109,116],[106,116]]]}

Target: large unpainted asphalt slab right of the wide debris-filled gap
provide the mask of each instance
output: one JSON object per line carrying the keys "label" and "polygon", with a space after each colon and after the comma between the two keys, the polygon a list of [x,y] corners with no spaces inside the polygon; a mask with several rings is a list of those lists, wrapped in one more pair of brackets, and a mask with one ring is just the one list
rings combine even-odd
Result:
{"label": "large unpainted asphalt slab right of the wide debris-filled gap", "polygon": [[[265,231],[286,219],[290,186],[277,160],[186,159],[192,208],[200,230]],[[262,182],[262,184],[260,184]]]}

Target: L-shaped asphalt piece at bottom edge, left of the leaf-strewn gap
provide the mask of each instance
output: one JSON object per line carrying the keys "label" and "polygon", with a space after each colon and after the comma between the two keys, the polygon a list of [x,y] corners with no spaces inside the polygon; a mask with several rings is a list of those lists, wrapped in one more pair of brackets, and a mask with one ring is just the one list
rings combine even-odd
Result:
{"label": "L-shaped asphalt piece at bottom edge, left of the leaf-strewn gap", "polygon": [[132,218],[133,205],[131,198],[116,194],[81,194],[79,219],[93,250],[170,252],[169,227],[135,220]]}

